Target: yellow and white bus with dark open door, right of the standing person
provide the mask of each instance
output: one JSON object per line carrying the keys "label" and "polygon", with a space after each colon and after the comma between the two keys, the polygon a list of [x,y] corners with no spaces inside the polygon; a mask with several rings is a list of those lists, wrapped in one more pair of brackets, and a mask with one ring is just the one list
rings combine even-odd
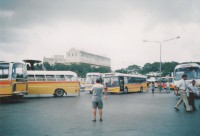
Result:
{"label": "yellow and white bus with dark open door, right of the standing person", "polygon": [[147,90],[146,76],[122,74],[122,73],[107,73],[103,77],[103,82],[110,93],[129,93],[143,92]]}

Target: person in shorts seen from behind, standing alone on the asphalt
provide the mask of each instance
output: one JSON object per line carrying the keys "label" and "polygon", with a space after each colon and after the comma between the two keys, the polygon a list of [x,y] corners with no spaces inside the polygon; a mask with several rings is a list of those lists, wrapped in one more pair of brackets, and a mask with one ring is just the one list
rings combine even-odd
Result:
{"label": "person in shorts seen from behind, standing alone on the asphalt", "polygon": [[92,86],[92,108],[93,108],[93,120],[96,122],[96,111],[98,108],[99,111],[99,116],[100,116],[100,121],[103,121],[102,115],[103,115],[103,101],[102,101],[102,96],[103,96],[103,85],[100,83],[100,79],[96,80],[96,83]]}

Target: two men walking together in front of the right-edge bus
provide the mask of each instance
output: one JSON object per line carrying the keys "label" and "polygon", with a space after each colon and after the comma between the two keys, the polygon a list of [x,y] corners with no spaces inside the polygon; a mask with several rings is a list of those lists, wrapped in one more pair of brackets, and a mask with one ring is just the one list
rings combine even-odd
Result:
{"label": "two men walking together in front of the right-edge bus", "polygon": [[191,111],[189,105],[192,106],[192,111],[197,111],[197,108],[194,102],[194,97],[195,97],[195,94],[196,95],[200,95],[200,94],[197,94],[198,88],[195,85],[196,81],[193,80],[192,85],[188,85],[188,83],[186,82],[186,79],[187,79],[187,75],[184,74],[182,75],[182,79],[178,83],[176,92],[180,94],[180,99],[178,100],[174,108],[176,110],[179,110],[178,109],[179,105],[182,102],[184,102],[186,111]]}

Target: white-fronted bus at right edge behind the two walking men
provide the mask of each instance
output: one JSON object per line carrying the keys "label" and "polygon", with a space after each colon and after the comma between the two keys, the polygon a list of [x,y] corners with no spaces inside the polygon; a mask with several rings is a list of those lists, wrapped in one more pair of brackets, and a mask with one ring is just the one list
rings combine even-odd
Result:
{"label": "white-fronted bus at right edge behind the two walking men", "polygon": [[[196,85],[200,90],[200,65],[197,63],[182,63],[174,69],[174,86],[178,85],[178,82],[182,79],[182,75],[187,75],[187,83],[191,84],[192,80],[196,80]],[[177,94],[175,89],[175,94]]]}

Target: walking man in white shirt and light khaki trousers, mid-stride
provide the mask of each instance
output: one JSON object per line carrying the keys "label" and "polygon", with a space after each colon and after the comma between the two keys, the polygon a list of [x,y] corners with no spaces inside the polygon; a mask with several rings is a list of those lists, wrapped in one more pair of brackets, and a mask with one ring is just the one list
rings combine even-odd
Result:
{"label": "walking man in white shirt and light khaki trousers, mid-stride", "polygon": [[190,106],[188,104],[186,90],[188,89],[188,85],[186,83],[187,75],[183,74],[182,79],[178,83],[178,91],[180,92],[180,99],[178,100],[176,106],[174,107],[176,110],[179,110],[178,107],[182,103],[182,101],[185,103],[186,111],[190,111]]}

